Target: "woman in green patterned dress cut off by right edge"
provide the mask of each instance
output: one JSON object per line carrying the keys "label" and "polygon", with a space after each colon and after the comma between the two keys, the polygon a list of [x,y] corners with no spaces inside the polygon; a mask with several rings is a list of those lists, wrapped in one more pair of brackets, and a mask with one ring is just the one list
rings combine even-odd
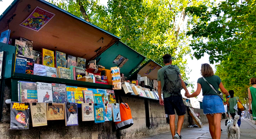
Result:
{"label": "woman in green patterned dress cut off by right edge", "polygon": [[256,78],[251,78],[250,84],[252,86],[248,88],[249,112],[252,110],[253,120],[256,120]]}

